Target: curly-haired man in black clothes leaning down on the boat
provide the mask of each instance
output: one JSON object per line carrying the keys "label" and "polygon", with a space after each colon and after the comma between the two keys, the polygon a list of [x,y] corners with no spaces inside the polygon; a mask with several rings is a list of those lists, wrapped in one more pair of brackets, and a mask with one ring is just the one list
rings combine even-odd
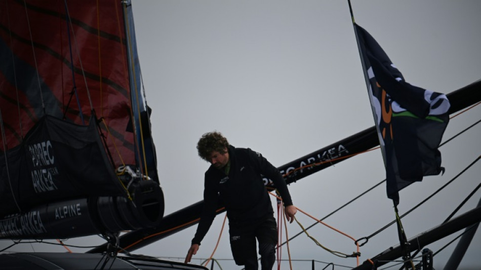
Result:
{"label": "curly-haired man in black clothes leaning down on the boat", "polygon": [[272,269],[277,225],[262,176],[273,181],[282,196],[287,220],[292,223],[297,209],[283,176],[260,153],[235,148],[219,132],[204,134],[197,150],[198,155],[212,165],[205,173],[204,209],[185,262],[190,262],[197,253],[222,202],[229,218],[230,247],[235,263],[245,265],[246,270],[258,269],[257,239],[261,268]]}

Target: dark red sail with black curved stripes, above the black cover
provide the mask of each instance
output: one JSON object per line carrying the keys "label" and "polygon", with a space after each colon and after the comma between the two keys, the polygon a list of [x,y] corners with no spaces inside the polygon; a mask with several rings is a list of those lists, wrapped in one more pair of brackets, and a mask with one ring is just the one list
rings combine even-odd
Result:
{"label": "dark red sail with black curved stripes, above the black cover", "polygon": [[87,125],[93,109],[115,165],[134,164],[122,3],[66,5],[68,17],[64,1],[0,2],[3,140],[19,145],[44,114]]}

